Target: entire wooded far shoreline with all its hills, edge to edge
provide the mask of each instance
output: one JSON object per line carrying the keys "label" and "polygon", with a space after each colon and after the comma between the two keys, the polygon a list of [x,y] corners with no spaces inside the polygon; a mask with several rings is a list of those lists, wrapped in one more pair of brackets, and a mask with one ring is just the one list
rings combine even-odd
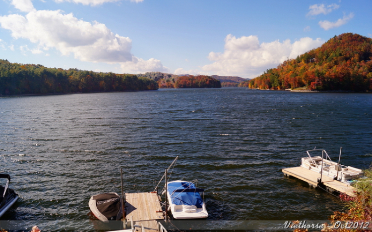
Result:
{"label": "entire wooded far shoreline with all its hills, edge to edge", "polygon": [[322,46],[287,59],[253,79],[174,75],[160,72],[115,74],[0,59],[0,95],[147,91],[158,88],[245,87],[259,90],[372,91],[372,39],[334,36]]}

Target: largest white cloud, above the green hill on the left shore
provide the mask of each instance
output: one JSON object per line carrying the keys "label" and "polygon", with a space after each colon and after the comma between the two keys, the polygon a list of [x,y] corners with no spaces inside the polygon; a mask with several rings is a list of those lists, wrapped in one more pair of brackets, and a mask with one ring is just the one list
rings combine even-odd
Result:
{"label": "largest white cloud, above the green hill on the left shore", "polygon": [[37,48],[23,47],[22,51],[42,53],[57,49],[62,55],[72,53],[76,59],[88,62],[120,63],[127,71],[168,70],[160,60],[143,60],[131,52],[132,41],[114,34],[105,24],[86,22],[61,10],[31,11],[26,16],[0,16],[0,25],[11,31],[15,39],[28,39]]}

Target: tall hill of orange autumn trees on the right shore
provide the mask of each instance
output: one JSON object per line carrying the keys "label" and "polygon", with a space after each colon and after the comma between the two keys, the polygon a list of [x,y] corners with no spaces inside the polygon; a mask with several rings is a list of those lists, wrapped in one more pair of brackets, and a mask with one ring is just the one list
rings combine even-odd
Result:
{"label": "tall hill of orange autumn trees on the right shore", "polygon": [[372,39],[345,33],[240,86],[272,90],[372,91],[371,60]]}

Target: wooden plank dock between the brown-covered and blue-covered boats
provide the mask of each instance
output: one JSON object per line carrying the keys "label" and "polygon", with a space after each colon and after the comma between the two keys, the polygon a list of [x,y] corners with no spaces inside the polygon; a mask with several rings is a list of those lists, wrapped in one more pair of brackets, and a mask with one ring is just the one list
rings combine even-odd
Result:
{"label": "wooden plank dock between the brown-covered and blue-covered boats", "polygon": [[[125,193],[125,217],[145,232],[158,232],[158,220],[164,220],[158,195],[152,192]],[[140,228],[135,228],[141,231]]]}

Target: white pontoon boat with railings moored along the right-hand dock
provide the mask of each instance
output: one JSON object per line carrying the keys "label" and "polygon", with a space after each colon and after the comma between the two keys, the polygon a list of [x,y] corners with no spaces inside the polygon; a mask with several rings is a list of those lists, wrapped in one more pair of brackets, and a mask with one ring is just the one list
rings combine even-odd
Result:
{"label": "white pontoon boat with railings moored along the right-hand dock", "polygon": [[[364,172],[361,169],[341,165],[340,158],[338,163],[331,161],[327,152],[323,149],[313,149],[306,152],[308,153],[308,157],[301,158],[301,166],[304,168],[321,173],[321,175],[326,175],[333,180],[348,185],[351,185],[356,179],[364,176]],[[310,155],[310,153],[313,154],[315,152],[317,152],[318,156]]]}

